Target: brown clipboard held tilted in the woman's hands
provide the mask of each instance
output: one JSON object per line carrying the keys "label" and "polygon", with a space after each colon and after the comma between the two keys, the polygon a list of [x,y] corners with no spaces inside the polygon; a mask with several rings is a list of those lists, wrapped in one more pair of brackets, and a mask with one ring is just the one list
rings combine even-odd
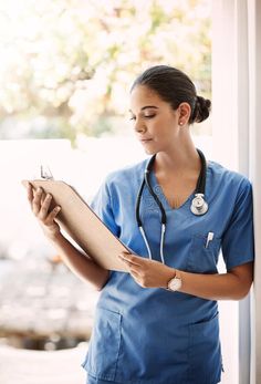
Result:
{"label": "brown clipboard held tilted in the woman's hands", "polygon": [[41,187],[45,194],[52,195],[50,209],[56,205],[62,208],[55,220],[97,264],[107,270],[128,272],[117,255],[130,250],[111,232],[72,186],[53,179],[22,180],[24,187],[29,183],[34,189]]}

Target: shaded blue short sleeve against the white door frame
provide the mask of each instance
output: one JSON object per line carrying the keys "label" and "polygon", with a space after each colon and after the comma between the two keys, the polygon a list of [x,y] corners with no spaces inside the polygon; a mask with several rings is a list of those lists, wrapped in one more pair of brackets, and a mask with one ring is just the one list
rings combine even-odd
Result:
{"label": "shaded blue short sleeve against the white door frame", "polygon": [[227,270],[254,259],[252,186],[248,179],[239,191],[225,231],[222,255]]}

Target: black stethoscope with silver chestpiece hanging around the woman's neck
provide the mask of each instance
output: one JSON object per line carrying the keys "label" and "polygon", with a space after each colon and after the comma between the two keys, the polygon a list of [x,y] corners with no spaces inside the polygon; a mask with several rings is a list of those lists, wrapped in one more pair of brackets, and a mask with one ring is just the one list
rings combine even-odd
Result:
{"label": "black stethoscope with silver chestpiece hanging around the woman's neck", "polygon": [[[206,158],[203,156],[203,153],[197,148],[197,152],[199,154],[200,160],[201,160],[201,170],[198,177],[198,181],[197,181],[197,186],[196,186],[196,191],[195,191],[195,197],[191,201],[191,206],[190,206],[190,210],[194,215],[196,216],[201,216],[205,215],[208,211],[208,204],[205,201],[203,197],[205,197],[205,187],[206,187],[206,175],[207,175],[207,164],[206,164]],[[144,242],[146,245],[147,251],[148,251],[148,257],[149,259],[153,259],[152,257],[152,250],[150,247],[148,245],[148,240],[146,238],[145,231],[143,229],[143,222],[140,220],[140,216],[139,216],[139,208],[140,208],[140,200],[142,200],[142,195],[143,195],[143,190],[144,187],[146,185],[146,187],[149,190],[149,194],[153,196],[154,200],[156,201],[157,206],[160,209],[161,212],[161,233],[160,233],[160,259],[161,262],[165,263],[165,259],[164,259],[164,237],[165,237],[165,231],[166,231],[166,224],[167,224],[167,216],[166,216],[166,211],[158,198],[158,196],[154,193],[153,188],[152,188],[152,184],[149,180],[149,176],[152,174],[152,169],[153,169],[153,165],[156,158],[156,154],[153,155],[150,157],[150,159],[147,163],[147,166],[145,168],[145,173],[144,173],[144,179],[143,183],[140,185],[138,195],[137,195],[137,200],[136,200],[136,220],[137,220],[137,225],[139,228],[139,231],[143,236]]]}

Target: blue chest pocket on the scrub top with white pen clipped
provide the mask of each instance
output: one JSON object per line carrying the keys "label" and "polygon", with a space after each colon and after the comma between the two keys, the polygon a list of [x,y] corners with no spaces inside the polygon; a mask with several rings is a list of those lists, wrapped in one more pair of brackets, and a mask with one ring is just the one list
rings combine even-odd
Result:
{"label": "blue chest pocket on the scrub top with white pen clipped", "polygon": [[197,233],[192,236],[187,260],[188,272],[217,273],[217,263],[220,251],[221,238],[215,237],[207,243],[207,235]]}

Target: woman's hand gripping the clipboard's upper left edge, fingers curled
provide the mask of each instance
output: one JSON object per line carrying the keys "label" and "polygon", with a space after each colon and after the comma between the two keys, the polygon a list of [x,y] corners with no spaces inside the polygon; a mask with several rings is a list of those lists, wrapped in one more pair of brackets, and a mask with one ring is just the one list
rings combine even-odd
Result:
{"label": "woman's hand gripping the clipboard's upper left edge, fingers curled", "polygon": [[60,235],[60,226],[55,221],[55,217],[61,210],[61,207],[56,206],[49,211],[52,195],[44,194],[42,188],[33,190],[32,185],[28,186],[28,200],[31,205],[33,215],[36,217],[44,235],[50,239],[55,239]]}

